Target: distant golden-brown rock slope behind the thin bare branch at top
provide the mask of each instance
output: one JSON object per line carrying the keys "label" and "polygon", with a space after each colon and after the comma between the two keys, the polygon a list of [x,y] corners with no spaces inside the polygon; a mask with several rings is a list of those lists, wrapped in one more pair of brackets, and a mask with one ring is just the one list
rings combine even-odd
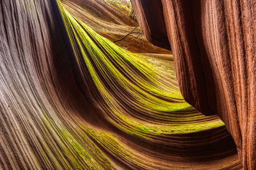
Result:
{"label": "distant golden-brown rock slope behind the thin bare branch at top", "polygon": [[[61,1],[72,16],[83,21],[100,35],[111,41],[119,40],[124,37],[137,25],[131,20],[127,12],[129,9],[117,3],[116,0],[70,0]],[[140,32],[138,27],[135,32]],[[134,34],[133,36],[138,36]],[[149,43],[144,36],[131,38],[116,42],[116,45],[123,47],[131,52],[150,52],[150,53],[170,53],[168,50],[161,49]]]}

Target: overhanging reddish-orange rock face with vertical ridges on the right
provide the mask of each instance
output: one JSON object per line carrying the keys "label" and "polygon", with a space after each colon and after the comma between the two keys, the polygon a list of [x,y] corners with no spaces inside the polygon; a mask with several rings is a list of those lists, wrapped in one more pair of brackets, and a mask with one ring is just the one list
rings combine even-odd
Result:
{"label": "overhanging reddish-orange rock face with vertical ridges on the right", "polygon": [[218,114],[244,169],[255,169],[256,2],[132,0],[132,5],[148,40],[172,47],[185,100],[205,115]]}

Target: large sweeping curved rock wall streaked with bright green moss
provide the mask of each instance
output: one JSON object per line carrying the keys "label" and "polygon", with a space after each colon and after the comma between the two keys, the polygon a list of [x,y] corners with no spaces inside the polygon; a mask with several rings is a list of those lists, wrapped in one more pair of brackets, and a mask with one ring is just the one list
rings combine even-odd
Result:
{"label": "large sweeping curved rock wall streaked with bright green moss", "polygon": [[218,116],[184,101],[172,55],[122,49],[68,3],[0,3],[1,169],[241,168]]}

